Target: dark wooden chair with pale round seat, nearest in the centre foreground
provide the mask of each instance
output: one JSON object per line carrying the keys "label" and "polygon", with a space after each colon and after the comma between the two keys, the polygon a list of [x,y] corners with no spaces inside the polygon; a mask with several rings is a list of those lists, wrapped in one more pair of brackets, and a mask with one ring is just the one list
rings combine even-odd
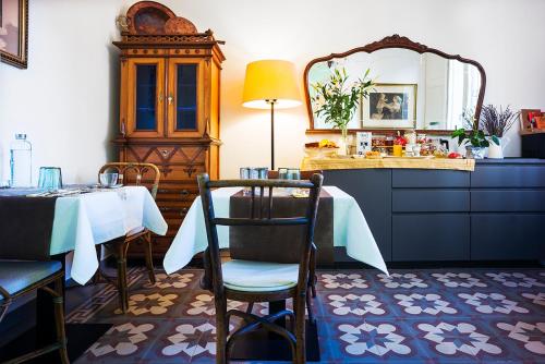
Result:
{"label": "dark wooden chair with pale round seat, nearest in the centre foreground", "polygon": [[[198,189],[208,247],[205,251],[205,286],[214,293],[216,306],[216,363],[227,363],[237,338],[261,327],[276,332],[289,341],[294,363],[305,363],[305,304],[310,280],[310,260],[313,245],[314,226],[318,208],[322,174],[314,174],[310,181],[288,180],[226,180],[210,181],[208,174],[199,174]],[[218,218],[214,213],[210,189],[243,186],[251,191],[247,218]],[[272,189],[292,187],[310,190],[304,216],[272,217]],[[258,193],[256,193],[256,190]],[[268,191],[268,194],[265,193]],[[264,202],[265,201],[265,202]],[[303,239],[294,248],[300,250],[299,262],[275,263],[233,259],[221,263],[217,226],[229,227],[296,227]],[[283,310],[264,317],[239,310],[227,310],[227,300],[242,302],[274,302],[293,299],[294,312]],[[229,332],[231,316],[242,318],[241,326]],[[276,324],[289,317],[292,330]]]}

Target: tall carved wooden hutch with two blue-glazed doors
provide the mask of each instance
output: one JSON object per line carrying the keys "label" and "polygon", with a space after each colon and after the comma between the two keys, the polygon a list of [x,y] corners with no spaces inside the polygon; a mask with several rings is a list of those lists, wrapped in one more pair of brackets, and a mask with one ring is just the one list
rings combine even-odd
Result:
{"label": "tall carved wooden hutch with two blue-glazed doors", "polygon": [[157,204],[169,225],[167,236],[155,236],[154,255],[161,257],[198,194],[197,173],[219,178],[222,43],[154,1],[135,3],[118,23],[120,124],[113,142],[120,161],[152,162],[161,171]]}

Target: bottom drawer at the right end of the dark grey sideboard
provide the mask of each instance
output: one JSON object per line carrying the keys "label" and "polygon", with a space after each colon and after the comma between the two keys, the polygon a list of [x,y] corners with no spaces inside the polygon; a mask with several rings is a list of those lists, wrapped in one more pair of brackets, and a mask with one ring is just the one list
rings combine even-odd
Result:
{"label": "bottom drawer at the right end of the dark grey sideboard", "polygon": [[545,215],[473,215],[471,259],[545,259]]}

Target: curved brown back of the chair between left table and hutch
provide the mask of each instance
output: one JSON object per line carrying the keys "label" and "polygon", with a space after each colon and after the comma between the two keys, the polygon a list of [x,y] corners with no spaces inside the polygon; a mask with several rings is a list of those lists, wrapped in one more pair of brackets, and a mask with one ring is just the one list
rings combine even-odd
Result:
{"label": "curved brown back of the chair between left table and hutch", "polygon": [[[128,184],[130,181],[125,181],[125,177],[128,173],[134,172],[135,175],[135,185],[143,185],[144,183],[152,183],[149,193],[154,198],[157,197],[157,191],[159,190],[159,180],[161,173],[159,168],[153,163],[137,163],[137,162],[110,162],[100,167],[98,171],[98,181],[100,181],[100,173],[104,173],[108,170],[114,170],[118,173],[119,183]],[[149,175],[149,180],[143,179],[144,175]],[[144,180],[144,181],[143,181]]]}

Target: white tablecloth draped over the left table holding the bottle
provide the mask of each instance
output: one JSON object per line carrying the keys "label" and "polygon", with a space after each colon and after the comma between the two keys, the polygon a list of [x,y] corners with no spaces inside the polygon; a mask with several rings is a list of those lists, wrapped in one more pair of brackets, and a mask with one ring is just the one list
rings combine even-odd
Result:
{"label": "white tablecloth draped over the left table holding the bottle", "polygon": [[98,268],[95,244],[145,227],[165,235],[167,222],[144,186],[57,198],[50,254],[74,252],[71,276],[85,284]]}

